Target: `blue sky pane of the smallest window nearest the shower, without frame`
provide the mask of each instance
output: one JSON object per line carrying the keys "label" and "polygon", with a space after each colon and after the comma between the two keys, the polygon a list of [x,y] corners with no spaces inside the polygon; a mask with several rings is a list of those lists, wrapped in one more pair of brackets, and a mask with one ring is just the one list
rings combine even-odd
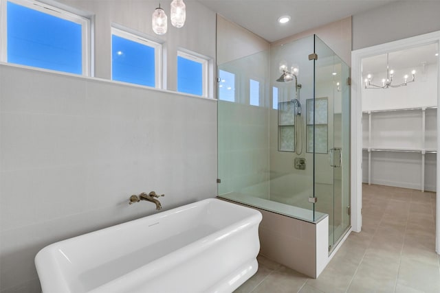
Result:
{"label": "blue sky pane of the smallest window nearest the shower, without frame", "polygon": [[203,95],[203,73],[200,62],[177,56],[177,91]]}

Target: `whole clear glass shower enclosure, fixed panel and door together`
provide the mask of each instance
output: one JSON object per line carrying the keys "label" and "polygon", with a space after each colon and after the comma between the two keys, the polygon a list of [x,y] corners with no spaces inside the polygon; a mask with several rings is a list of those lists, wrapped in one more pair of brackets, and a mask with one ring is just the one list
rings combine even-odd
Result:
{"label": "whole clear glass shower enclosure, fixed panel and door together", "polygon": [[218,67],[219,197],[350,227],[349,67],[309,36]]}

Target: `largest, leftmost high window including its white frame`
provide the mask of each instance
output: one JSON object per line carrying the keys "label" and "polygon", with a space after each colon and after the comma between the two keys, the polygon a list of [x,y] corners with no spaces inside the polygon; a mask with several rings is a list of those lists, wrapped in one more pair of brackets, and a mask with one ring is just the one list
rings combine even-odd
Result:
{"label": "largest, leftmost high window including its white frame", "polygon": [[1,60],[89,75],[89,19],[36,1],[1,2]]}

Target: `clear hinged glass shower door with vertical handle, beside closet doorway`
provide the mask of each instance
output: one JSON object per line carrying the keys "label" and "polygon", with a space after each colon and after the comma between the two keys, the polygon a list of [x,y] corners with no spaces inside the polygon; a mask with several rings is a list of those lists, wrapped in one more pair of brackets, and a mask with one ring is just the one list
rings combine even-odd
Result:
{"label": "clear hinged glass shower door with vertical handle, beside closet doorway", "polygon": [[[316,211],[329,215],[329,250],[349,227],[349,67],[315,36]],[[348,106],[347,106],[348,105]]]}

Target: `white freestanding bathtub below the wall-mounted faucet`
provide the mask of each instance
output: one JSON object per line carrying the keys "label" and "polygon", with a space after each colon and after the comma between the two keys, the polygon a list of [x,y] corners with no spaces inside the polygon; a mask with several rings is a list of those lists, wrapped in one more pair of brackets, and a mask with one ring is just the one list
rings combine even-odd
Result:
{"label": "white freestanding bathtub below the wall-mounted faucet", "polygon": [[258,268],[261,213],[201,200],[51,244],[43,293],[232,292]]}

